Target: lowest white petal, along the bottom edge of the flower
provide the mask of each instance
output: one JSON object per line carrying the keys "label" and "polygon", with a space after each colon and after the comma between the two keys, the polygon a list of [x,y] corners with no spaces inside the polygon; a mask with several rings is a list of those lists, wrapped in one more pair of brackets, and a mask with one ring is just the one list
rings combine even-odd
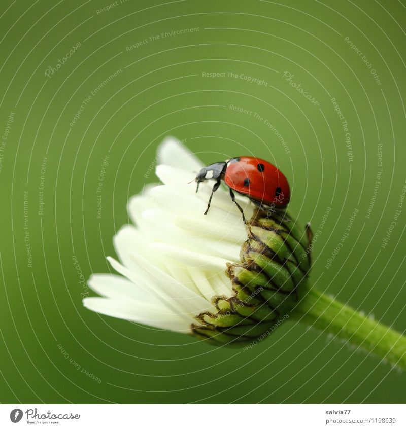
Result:
{"label": "lowest white petal, along the bottom edge of the flower", "polygon": [[185,333],[190,332],[190,324],[194,321],[193,318],[185,320],[176,314],[161,313],[152,306],[131,300],[92,297],[85,298],[83,305],[97,313]]}

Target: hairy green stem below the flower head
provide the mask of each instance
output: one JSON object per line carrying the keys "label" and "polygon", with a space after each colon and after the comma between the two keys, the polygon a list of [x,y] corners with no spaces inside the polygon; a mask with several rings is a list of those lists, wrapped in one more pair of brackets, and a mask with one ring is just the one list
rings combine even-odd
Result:
{"label": "hairy green stem below the flower head", "polygon": [[293,316],[301,323],[333,334],[406,370],[406,337],[316,288],[301,290]]}

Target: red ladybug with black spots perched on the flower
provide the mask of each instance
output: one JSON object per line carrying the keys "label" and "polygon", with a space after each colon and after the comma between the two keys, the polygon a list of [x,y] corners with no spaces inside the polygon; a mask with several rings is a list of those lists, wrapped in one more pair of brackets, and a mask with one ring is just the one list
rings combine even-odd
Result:
{"label": "red ladybug with black spots perched on the flower", "polygon": [[259,206],[284,208],[290,199],[289,183],[286,177],[275,165],[260,158],[241,156],[202,168],[195,178],[196,192],[199,190],[200,182],[211,179],[214,179],[216,183],[213,186],[205,215],[209,211],[213,194],[220,187],[221,180],[228,186],[231,200],[241,211],[244,223],[246,223],[244,211],[235,201],[234,191],[247,196]]}

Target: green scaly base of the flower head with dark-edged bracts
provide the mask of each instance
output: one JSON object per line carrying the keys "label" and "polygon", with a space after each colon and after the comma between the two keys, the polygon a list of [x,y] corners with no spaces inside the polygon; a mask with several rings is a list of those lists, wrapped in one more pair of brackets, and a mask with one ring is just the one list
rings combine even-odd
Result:
{"label": "green scaly base of the flower head with dark-edged bracts", "polygon": [[195,336],[217,345],[246,345],[265,338],[297,302],[311,267],[310,228],[300,229],[284,210],[257,209],[247,223],[241,262],[227,264],[233,296],[215,296],[217,312],[200,313]]}

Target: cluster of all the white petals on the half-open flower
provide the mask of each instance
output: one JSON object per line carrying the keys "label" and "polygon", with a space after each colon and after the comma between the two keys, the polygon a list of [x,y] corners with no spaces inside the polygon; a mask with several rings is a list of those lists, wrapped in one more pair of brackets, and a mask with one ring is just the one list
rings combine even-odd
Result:
{"label": "cluster of all the white petals on the half-open flower", "polygon": [[[225,187],[204,215],[214,181],[201,183],[196,194],[195,182],[188,182],[204,165],[179,141],[165,139],[157,159],[163,185],[145,187],[130,199],[134,225],[114,236],[121,262],[108,260],[121,275],[93,274],[88,284],[101,297],[85,298],[83,304],[109,316],[190,333],[191,324],[198,323],[195,316],[216,311],[214,296],[233,295],[226,263],[240,261],[247,232]],[[236,200],[250,219],[253,204],[240,196]]]}

